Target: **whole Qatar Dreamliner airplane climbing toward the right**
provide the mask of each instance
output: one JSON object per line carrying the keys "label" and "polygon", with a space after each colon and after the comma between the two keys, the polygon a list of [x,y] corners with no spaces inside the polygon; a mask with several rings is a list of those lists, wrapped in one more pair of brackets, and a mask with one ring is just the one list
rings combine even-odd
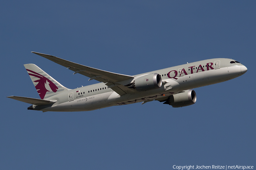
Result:
{"label": "whole Qatar Dreamliner airplane climbing toward the right", "polygon": [[214,58],[186,63],[175,67],[138,75],[123,75],[73,63],[55,56],[32,52],[59,65],[73,74],[89,77],[100,83],[69,89],[35,64],[24,64],[41,99],[20,96],[8,98],[31,104],[36,111],[92,111],[110,106],[160,101],[172,107],[195,104],[193,88],[231,80],[246,73],[240,62],[228,58]]}

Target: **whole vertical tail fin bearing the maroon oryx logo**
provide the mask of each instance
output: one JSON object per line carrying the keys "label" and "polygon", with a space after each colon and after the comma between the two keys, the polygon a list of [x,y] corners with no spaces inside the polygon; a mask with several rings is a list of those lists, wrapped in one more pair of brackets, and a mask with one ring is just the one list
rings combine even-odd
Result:
{"label": "whole vertical tail fin bearing the maroon oryx logo", "polygon": [[62,86],[59,82],[57,82],[54,78],[49,76],[35,64],[24,64],[24,67],[28,71],[28,75],[34,83],[34,86],[41,99],[70,90]]}

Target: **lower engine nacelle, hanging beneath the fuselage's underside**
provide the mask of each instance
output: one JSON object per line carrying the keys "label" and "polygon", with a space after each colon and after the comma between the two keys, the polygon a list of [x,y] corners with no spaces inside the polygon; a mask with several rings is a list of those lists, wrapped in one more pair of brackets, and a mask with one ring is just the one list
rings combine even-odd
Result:
{"label": "lower engine nacelle, hanging beneath the fuselage's underside", "polygon": [[184,107],[195,104],[197,95],[194,90],[185,90],[182,93],[171,95],[164,104],[172,105],[172,107]]}

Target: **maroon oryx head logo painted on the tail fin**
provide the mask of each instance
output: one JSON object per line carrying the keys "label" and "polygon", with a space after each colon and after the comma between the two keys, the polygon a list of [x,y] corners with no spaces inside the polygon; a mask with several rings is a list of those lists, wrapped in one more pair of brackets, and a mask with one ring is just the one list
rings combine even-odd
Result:
{"label": "maroon oryx head logo painted on the tail fin", "polygon": [[46,92],[51,92],[51,91],[57,92],[58,88],[53,82],[51,82],[51,80],[32,70],[29,70],[29,69],[26,69],[26,70],[31,72],[31,73],[28,73],[28,75],[39,78],[39,80],[35,80],[34,82],[38,82],[38,84],[35,87],[41,99],[44,99]]}

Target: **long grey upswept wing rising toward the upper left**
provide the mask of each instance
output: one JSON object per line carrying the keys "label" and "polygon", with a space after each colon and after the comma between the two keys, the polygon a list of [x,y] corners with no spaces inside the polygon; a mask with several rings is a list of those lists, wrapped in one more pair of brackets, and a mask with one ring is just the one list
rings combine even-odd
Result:
{"label": "long grey upswept wing rising toward the upper left", "polygon": [[42,54],[42,53],[38,53],[38,52],[32,52],[32,53],[42,56],[44,58],[47,58],[47,59],[49,59],[59,65],[62,65],[64,67],[67,67],[68,69],[75,71],[74,74],[79,73],[81,75],[90,77],[89,80],[94,79],[99,82],[104,82],[104,83],[106,83],[107,86],[109,86],[109,88],[112,88],[112,90],[117,92],[119,95],[123,95],[123,94],[129,93],[132,91],[131,89],[128,89],[124,85],[117,84],[116,82],[122,82],[122,81],[129,80],[129,79],[132,80],[134,78],[134,76],[122,75],[122,74],[112,73],[109,71],[95,69],[92,67],[73,63],[71,61],[67,61],[65,59],[61,59],[61,58],[51,56],[48,54]]}

